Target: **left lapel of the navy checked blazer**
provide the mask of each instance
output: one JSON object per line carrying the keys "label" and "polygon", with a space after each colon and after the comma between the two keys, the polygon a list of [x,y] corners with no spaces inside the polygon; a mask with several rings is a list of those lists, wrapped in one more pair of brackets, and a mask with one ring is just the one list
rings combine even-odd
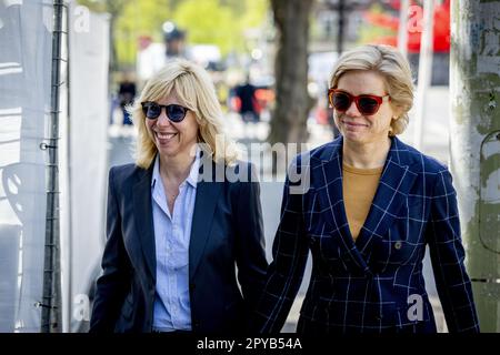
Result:
{"label": "left lapel of the navy checked blazer", "polygon": [[320,165],[312,170],[314,189],[321,213],[327,223],[333,227],[330,237],[336,239],[339,247],[349,256],[349,260],[346,260],[347,263],[366,272],[368,265],[354,245],[343,204],[342,138],[336,140],[334,143],[337,144],[333,144],[331,154],[323,154],[322,159],[320,156]]}

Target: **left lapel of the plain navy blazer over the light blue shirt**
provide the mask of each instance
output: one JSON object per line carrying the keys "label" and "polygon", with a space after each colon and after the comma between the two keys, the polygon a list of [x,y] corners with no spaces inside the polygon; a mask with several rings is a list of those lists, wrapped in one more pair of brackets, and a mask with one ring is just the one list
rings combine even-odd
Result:
{"label": "left lapel of the plain navy blazer over the light blue shirt", "polygon": [[154,250],[154,226],[151,206],[151,166],[143,172],[139,181],[133,185],[133,217],[139,233],[139,240],[144,255],[146,264],[156,282],[157,255]]}

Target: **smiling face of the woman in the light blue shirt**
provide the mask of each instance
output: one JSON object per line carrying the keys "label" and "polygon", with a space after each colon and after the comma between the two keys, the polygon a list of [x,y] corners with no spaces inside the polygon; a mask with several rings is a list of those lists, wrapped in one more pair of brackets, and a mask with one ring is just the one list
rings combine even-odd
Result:
{"label": "smiling face of the woman in the light blue shirt", "polygon": [[[174,92],[157,102],[162,105],[181,104]],[[197,143],[198,122],[191,110],[188,110],[181,122],[173,123],[162,109],[158,119],[146,119],[146,128],[160,156],[166,159],[189,155],[191,148]]]}

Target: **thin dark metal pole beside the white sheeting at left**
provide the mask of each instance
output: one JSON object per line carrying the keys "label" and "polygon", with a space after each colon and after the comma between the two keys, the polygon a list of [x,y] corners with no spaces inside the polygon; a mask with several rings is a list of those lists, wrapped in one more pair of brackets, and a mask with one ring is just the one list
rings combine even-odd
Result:
{"label": "thin dark metal pole beside the white sheeting at left", "polygon": [[48,143],[40,144],[40,148],[42,150],[47,150],[49,154],[47,178],[46,245],[43,263],[43,298],[40,304],[40,306],[42,307],[42,333],[59,333],[62,328],[58,140],[63,8],[63,0],[53,1],[51,116]]}

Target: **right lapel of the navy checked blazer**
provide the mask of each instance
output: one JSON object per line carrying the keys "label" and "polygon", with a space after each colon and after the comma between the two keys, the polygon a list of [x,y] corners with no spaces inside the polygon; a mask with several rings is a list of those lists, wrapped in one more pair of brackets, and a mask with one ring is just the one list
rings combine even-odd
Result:
{"label": "right lapel of the navy checked blazer", "polygon": [[372,243],[386,237],[416,181],[417,174],[410,169],[413,162],[404,148],[397,138],[392,139],[370,212],[356,241],[358,250],[367,261]]}

